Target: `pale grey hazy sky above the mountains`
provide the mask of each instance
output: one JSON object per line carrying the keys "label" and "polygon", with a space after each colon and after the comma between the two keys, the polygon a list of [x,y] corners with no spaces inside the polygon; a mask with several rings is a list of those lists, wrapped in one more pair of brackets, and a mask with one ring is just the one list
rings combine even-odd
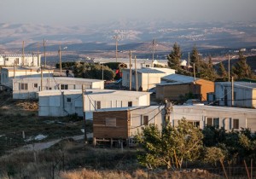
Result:
{"label": "pale grey hazy sky above the mountains", "polygon": [[256,20],[256,0],[1,0],[0,23]]}

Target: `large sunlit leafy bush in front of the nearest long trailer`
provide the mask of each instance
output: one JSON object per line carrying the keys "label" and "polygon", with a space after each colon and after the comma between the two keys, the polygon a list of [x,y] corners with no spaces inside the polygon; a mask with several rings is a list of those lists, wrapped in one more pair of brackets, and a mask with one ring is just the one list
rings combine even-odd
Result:
{"label": "large sunlit leafy bush in front of the nearest long trailer", "polygon": [[183,159],[198,159],[202,137],[201,130],[184,118],[178,121],[176,127],[167,124],[162,131],[150,124],[137,135],[137,140],[143,147],[143,151],[138,154],[138,160],[148,168],[181,168]]}

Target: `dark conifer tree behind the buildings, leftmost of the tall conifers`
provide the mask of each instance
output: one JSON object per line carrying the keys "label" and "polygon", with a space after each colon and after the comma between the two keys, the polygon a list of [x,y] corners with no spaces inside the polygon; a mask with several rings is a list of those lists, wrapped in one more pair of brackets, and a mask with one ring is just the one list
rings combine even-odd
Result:
{"label": "dark conifer tree behind the buildings, leftmost of the tall conifers", "polygon": [[180,46],[177,43],[174,43],[171,54],[167,55],[168,66],[170,66],[174,70],[180,70],[181,57],[182,52]]}

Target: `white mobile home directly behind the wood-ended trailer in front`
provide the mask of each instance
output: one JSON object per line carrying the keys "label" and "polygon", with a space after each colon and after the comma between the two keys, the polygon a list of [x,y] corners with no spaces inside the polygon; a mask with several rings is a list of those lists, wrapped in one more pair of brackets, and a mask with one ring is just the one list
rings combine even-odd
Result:
{"label": "white mobile home directly behind the wood-ended trailer in front", "polygon": [[[81,90],[45,90],[38,92],[39,116],[66,116],[77,113],[83,116]],[[86,90],[84,104],[86,118],[92,112],[113,107],[149,106],[150,93],[125,90]]]}

